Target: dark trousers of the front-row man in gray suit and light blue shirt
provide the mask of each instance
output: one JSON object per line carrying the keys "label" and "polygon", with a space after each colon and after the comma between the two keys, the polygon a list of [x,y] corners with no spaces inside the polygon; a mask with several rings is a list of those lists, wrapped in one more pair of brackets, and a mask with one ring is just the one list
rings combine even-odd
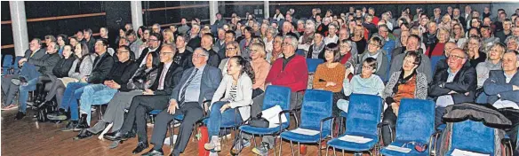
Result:
{"label": "dark trousers of the front-row man in gray suit and light blue shirt", "polygon": [[168,130],[168,123],[173,120],[173,116],[180,114],[184,114],[184,121],[180,124],[179,135],[177,136],[176,144],[173,147],[172,155],[180,155],[180,152],[184,152],[196,121],[199,121],[204,117],[204,109],[198,102],[185,103],[184,105],[181,105],[180,109],[177,109],[174,114],[168,113],[166,109],[156,115],[153,135],[151,136],[151,144],[154,144],[154,149],[162,149],[164,138],[166,137]]}

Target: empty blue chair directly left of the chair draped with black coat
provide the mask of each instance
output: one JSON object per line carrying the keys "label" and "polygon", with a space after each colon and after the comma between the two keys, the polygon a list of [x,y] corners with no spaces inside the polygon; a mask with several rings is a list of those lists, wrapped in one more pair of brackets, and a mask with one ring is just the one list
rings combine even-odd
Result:
{"label": "empty blue chair directly left of the chair draped with black coat", "polygon": [[[383,155],[430,155],[435,133],[435,103],[429,100],[404,98],[400,102],[396,119],[395,141],[389,145],[410,148],[403,153],[383,148]],[[392,134],[393,136],[393,134]],[[427,144],[428,152],[418,152],[412,142]]]}

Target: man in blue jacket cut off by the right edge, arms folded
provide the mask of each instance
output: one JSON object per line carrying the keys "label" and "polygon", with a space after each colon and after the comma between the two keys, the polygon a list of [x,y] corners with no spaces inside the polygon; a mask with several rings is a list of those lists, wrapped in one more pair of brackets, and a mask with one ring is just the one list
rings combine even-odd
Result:
{"label": "man in blue jacket cut off by the right edge, arms folded", "polygon": [[491,71],[483,90],[489,95],[488,103],[512,121],[512,129],[506,129],[506,132],[512,143],[516,144],[519,129],[519,54],[507,52],[502,61],[503,70]]}

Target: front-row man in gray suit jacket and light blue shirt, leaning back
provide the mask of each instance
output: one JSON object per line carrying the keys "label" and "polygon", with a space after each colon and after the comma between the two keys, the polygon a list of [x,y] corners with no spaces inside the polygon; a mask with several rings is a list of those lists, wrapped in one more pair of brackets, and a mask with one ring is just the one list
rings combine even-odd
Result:
{"label": "front-row man in gray suit jacket and light blue shirt, leaning back", "polygon": [[[180,124],[180,134],[172,155],[180,155],[188,145],[189,136],[193,131],[196,121],[204,116],[204,101],[211,101],[212,95],[218,89],[221,81],[221,71],[214,66],[207,66],[209,52],[202,48],[197,48],[193,52],[194,67],[188,68],[182,74],[179,85],[172,91],[167,109],[156,115],[156,123],[153,128],[151,143],[154,144],[149,152],[143,155],[163,155],[162,146],[166,136],[168,122],[173,120],[173,116],[184,115],[184,120]],[[126,124],[126,123],[124,123]],[[124,125],[120,132],[107,134],[105,138],[109,140],[121,140],[126,138],[128,131],[132,129],[132,124]],[[148,144],[138,144],[133,153],[138,153],[148,148]]]}

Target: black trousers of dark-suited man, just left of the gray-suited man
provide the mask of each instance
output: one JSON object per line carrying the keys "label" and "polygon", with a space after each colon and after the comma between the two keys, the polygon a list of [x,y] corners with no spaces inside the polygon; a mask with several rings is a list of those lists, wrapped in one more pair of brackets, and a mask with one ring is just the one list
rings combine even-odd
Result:
{"label": "black trousers of dark-suited man, just left of the gray-suited man", "polygon": [[132,105],[130,105],[130,110],[128,111],[126,119],[124,119],[121,132],[129,132],[132,130],[133,124],[135,124],[135,127],[137,128],[137,136],[139,136],[139,142],[148,143],[146,113],[156,109],[166,109],[169,105],[169,100],[169,96],[140,95],[133,97]]}

